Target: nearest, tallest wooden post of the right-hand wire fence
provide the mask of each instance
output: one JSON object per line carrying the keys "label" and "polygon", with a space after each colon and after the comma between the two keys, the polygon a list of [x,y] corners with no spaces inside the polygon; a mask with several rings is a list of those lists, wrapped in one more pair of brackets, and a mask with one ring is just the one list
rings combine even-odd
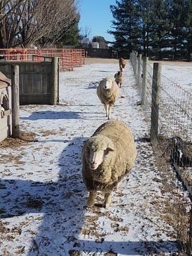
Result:
{"label": "nearest, tallest wooden post of the right-hand wire fence", "polygon": [[158,137],[160,90],[161,90],[161,63],[154,63],[153,79],[152,79],[151,125],[150,125],[151,141],[157,140],[157,137]]}

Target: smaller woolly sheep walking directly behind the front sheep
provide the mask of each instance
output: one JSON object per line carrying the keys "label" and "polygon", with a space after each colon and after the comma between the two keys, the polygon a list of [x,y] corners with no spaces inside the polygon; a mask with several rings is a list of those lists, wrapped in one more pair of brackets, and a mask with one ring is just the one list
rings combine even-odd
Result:
{"label": "smaller woolly sheep walking directly behind the front sheep", "polygon": [[119,96],[118,85],[109,77],[102,79],[97,87],[97,96],[100,102],[104,104],[108,120],[111,119],[111,108]]}

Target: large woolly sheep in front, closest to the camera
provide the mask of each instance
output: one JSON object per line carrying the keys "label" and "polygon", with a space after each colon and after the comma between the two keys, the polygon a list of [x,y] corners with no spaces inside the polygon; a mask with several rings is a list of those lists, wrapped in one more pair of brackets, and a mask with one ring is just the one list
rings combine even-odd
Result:
{"label": "large woolly sheep in front, closest to the camera", "polygon": [[104,193],[104,207],[111,204],[111,192],[128,173],[136,159],[136,147],[131,130],[124,122],[110,120],[93,133],[83,146],[83,182],[92,207],[97,191]]}

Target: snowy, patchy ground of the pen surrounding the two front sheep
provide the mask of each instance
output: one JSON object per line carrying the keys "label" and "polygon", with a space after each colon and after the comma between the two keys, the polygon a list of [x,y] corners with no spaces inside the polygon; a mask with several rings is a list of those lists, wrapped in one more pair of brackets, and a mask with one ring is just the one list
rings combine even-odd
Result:
{"label": "snowy, patchy ground of the pen surrounding the two front sheep", "polygon": [[177,252],[174,230],[163,219],[164,195],[147,125],[137,106],[131,64],[124,70],[112,118],[131,127],[138,157],[113,193],[108,209],[86,209],[81,148],[106,122],[97,84],[114,76],[116,63],[93,63],[60,73],[60,105],[21,106],[22,131],[38,141],[1,148],[0,255],[170,255]]}

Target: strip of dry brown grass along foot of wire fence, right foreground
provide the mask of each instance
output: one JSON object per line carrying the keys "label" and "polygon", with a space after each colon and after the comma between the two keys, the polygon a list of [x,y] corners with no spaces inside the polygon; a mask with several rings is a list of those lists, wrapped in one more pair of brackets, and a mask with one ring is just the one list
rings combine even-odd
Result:
{"label": "strip of dry brown grass along foot of wire fence, right foreground", "polygon": [[161,138],[160,141],[153,144],[156,165],[162,178],[161,192],[166,196],[161,214],[164,221],[175,229],[175,233],[172,234],[173,238],[177,239],[182,250],[186,251],[189,239],[189,209],[191,208],[191,202],[180,190],[177,177],[172,170],[172,166],[168,163],[170,156],[168,143],[169,141],[166,138]]}

